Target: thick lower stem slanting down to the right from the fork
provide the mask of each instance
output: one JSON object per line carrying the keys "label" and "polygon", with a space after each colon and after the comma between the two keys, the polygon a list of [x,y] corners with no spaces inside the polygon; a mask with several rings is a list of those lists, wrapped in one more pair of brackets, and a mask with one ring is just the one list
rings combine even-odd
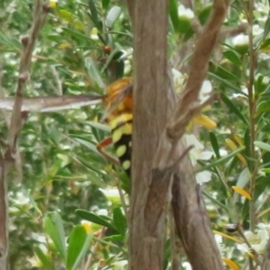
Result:
{"label": "thick lower stem slanting down to the right from the fork", "polygon": [[181,238],[193,269],[224,269],[202,201],[200,186],[195,183],[188,157],[181,160],[180,172],[174,177],[172,195],[176,233]]}

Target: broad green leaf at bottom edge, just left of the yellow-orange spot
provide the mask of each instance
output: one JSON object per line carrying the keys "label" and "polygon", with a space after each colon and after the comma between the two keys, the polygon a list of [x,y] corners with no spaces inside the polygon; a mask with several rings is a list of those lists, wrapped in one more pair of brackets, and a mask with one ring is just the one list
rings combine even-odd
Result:
{"label": "broad green leaf at bottom edge, just left of the yellow-orange spot", "polygon": [[67,270],[76,270],[89,251],[92,234],[87,234],[82,225],[76,225],[70,233],[67,247]]}

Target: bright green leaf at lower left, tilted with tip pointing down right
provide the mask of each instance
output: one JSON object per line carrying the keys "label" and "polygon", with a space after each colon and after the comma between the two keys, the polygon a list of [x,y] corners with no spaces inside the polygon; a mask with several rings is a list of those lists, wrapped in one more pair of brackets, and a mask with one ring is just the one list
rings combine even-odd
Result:
{"label": "bright green leaf at lower left, tilted with tip pointing down right", "polygon": [[66,241],[63,222],[58,212],[50,212],[44,220],[44,230],[49,234],[60,256],[66,260]]}

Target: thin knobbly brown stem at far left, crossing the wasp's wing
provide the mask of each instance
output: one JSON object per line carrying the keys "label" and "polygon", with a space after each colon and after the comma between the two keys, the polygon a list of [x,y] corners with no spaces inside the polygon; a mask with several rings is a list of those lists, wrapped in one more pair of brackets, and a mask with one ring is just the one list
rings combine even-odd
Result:
{"label": "thin knobbly brown stem at far left, crossing the wasp's wing", "polygon": [[45,23],[47,14],[49,13],[49,5],[44,4],[42,0],[34,1],[33,23],[28,36],[22,38],[23,45],[19,76],[17,82],[16,96],[14,102],[14,110],[8,132],[8,147],[4,157],[0,151],[0,270],[7,270],[7,254],[8,254],[8,217],[7,217],[7,193],[6,193],[6,175],[8,174],[9,165],[14,162],[16,156],[17,138],[23,128],[23,118],[25,113],[21,112],[23,103],[23,87],[29,78],[31,67],[31,55],[34,49],[35,41],[38,38],[40,29]]}

